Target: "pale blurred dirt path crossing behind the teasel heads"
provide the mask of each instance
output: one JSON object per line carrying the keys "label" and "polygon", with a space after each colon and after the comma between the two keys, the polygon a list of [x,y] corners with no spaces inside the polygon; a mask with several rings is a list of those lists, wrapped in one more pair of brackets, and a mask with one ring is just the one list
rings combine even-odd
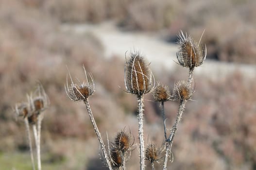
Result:
{"label": "pale blurred dirt path crossing behind the teasel heads", "polygon": [[[141,32],[122,32],[118,30],[113,23],[102,23],[98,25],[78,24],[62,25],[62,31],[73,32],[74,34],[92,33],[102,41],[105,48],[105,56],[111,57],[113,54],[124,58],[126,51],[139,50],[146,56],[152,65],[154,71],[162,68],[172,70],[176,67],[175,44],[167,43],[155,34],[146,34]],[[216,62],[206,60],[202,67],[197,68],[195,74],[203,74],[216,80],[225,78],[228,74],[240,71],[248,78],[256,77],[255,65],[243,65]]]}

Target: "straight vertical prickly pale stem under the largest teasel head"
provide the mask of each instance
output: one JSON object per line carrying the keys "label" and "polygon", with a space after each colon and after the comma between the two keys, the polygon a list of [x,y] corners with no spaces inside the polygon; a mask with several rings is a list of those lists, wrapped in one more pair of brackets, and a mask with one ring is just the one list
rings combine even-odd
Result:
{"label": "straight vertical prickly pale stem under the largest teasel head", "polygon": [[144,139],[143,139],[143,97],[138,95],[138,135],[139,135],[139,153],[140,153],[140,170],[144,170]]}

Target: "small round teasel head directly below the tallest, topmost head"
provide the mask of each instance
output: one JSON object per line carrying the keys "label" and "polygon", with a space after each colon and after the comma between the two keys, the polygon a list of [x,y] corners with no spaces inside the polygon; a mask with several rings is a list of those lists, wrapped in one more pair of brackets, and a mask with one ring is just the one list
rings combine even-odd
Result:
{"label": "small round teasel head directly below the tallest, topmost head", "polygon": [[179,81],[174,87],[174,100],[188,100],[191,98],[193,90],[185,81]]}

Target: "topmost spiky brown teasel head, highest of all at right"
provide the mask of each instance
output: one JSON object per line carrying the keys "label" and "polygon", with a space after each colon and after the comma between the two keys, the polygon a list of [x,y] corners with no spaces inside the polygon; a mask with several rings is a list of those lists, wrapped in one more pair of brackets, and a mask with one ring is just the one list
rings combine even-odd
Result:
{"label": "topmost spiky brown teasel head, highest of all at right", "polygon": [[202,45],[202,47],[199,47],[199,44],[190,35],[187,35],[187,33],[184,35],[182,31],[177,36],[179,51],[176,56],[179,64],[190,70],[193,70],[194,67],[201,66],[205,61],[206,46]]}

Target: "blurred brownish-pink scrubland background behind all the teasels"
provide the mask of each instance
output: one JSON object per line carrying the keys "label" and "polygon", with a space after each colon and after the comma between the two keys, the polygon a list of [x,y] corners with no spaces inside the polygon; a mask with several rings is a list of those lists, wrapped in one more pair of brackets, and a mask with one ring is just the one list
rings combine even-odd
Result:
{"label": "blurred brownish-pink scrubland background behind all the teasels", "polygon": [[[176,60],[176,34],[207,46],[195,69],[195,93],[174,138],[170,170],[256,170],[255,0],[0,0],[0,169],[32,170],[22,119],[12,107],[40,81],[45,111],[44,170],[103,170],[100,147],[81,102],[68,99],[67,67],[95,78],[89,102],[106,141],[131,131],[137,139],[136,97],[124,92],[125,52],[151,62],[156,81],[171,89],[188,70]],[[145,143],[163,142],[159,103],[145,99]],[[171,128],[177,102],[166,103]],[[128,170],[137,170],[138,151]],[[156,169],[161,169],[159,161]]]}

